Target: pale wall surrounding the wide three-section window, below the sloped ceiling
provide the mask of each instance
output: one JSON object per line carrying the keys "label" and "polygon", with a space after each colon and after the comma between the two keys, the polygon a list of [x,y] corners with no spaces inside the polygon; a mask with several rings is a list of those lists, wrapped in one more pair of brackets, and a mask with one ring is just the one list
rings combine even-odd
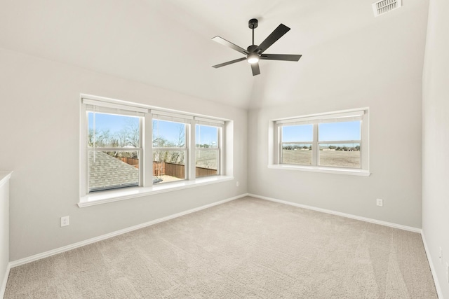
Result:
{"label": "pale wall surrounding the wide three-section window, below the sloped ceiling", "polygon": [[[0,65],[0,165],[14,171],[11,260],[246,193],[246,110],[10,50],[0,49]],[[80,93],[234,120],[239,187],[227,181],[80,209]]]}

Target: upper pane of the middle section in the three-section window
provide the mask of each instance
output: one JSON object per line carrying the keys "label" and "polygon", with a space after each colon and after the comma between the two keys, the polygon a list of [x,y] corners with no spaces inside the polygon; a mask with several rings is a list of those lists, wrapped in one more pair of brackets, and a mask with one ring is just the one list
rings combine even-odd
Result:
{"label": "upper pane of the middle section in the three-section window", "polygon": [[185,148],[185,123],[153,120],[154,148]]}

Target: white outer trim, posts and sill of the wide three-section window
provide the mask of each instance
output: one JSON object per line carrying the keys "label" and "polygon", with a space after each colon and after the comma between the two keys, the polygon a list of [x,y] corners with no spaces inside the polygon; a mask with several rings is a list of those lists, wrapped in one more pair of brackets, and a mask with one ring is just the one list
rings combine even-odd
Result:
{"label": "white outer trim, posts and sill of the wide three-section window", "polygon": [[[80,117],[81,117],[81,125],[80,125],[80,197],[79,197],[79,207],[89,207],[91,205],[96,204],[104,204],[107,202],[116,202],[119,200],[127,200],[135,197],[142,197],[148,195],[154,195],[159,193],[167,193],[175,190],[182,190],[185,188],[194,188],[196,186],[204,186],[211,183],[221,183],[225,181],[233,180],[232,176],[232,168],[229,168],[231,165],[227,165],[227,169],[222,168],[225,165],[225,159],[232,158],[232,140],[228,140],[227,144],[225,144],[225,127],[229,127],[232,129],[232,120],[222,119],[222,118],[214,118],[212,116],[203,116],[195,113],[187,113],[182,111],[175,111],[172,109],[162,109],[160,107],[147,106],[144,104],[137,104],[131,102],[125,102],[117,99],[109,99],[105,97],[98,97],[92,95],[84,95],[81,94],[81,106],[80,106]],[[95,193],[87,192],[87,169],[88,169],[88,160],[86,159],[88,151],[86,151],[87,144],[87,126],[88,126],[88,118],[86,117],[86,109],[87,105],[98,105],[104,106],[105,110],[109,113],[113,113],[114,109],[119,109],[121,111],[127,110],[130,113],[138,113],[139,116],[143,116],[145,118],[145,126],[142,126],[141,123],[141,147],[143,155],[142,155],[142,165],[141,169],[141,177],[140,177],[140,186],[136,187],[128,187],[128,188],[118,188],[113,190],[102,190],[96,191]],[[101,113],[101,111],[98,111]],[[152,116],[157,114],[158,116],[163,116],[159,119],[173,119],[173,121],[177,121],[175,119],[182,118],[185,120],[185,123],[190,127],[188,134],[186,132],[186,148],[182,148],[182,150],[186,150],[187,155],[189,155],[189,165],[192,165],[195,161],[195,134],[194,131],[195,125],[197,123],[207,123],[208,125],[213,125],[217,127],[221,127],[222,130],[219,144],[220,151],[220,161],[219,165],[219,174],[214,176],[203,176],[200,178],[195,178],[195,167],[187,167],[189,169],[188,176],[185,180],[181,181],[173,181],[162,184],[153,185],[152,180],[152,161],[153,161],[153,148],[152,148]],[[229,126],[228,126],[229,125]],[[192,129],[193,128],[193,129]],[[187,129],[188,130],[188,129]],[[187,145],[188,144],[188,145]],[[128,149],[128,148],[127,148]],[[228,153],[229,152],[229,153]],[[225,155],[229,155],[229,157]],[[193,162],[192,162],[193,161]],[[194,164],[193,164],[194,165]],[[144,171],[145,169],[145,171]]]}

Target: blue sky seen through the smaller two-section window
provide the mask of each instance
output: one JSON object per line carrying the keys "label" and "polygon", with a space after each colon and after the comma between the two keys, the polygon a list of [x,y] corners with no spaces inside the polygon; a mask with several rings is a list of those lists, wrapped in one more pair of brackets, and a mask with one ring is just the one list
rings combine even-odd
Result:
{"label": "blue sky seen through the smaller two-section window", "polygon": [[[321,123],[319,141],[360,140],[360,122]],[[282,141],[312,141],[313,125],[284,125]]]}

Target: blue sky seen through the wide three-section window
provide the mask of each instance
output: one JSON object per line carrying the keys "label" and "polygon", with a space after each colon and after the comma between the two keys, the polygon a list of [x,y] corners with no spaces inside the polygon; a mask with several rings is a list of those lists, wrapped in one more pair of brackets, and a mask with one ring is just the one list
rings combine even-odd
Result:
{"label": "blue sky seen through the wide three-section window", "polygon": [[[126,127],[130,120],[138,123],[138,117],[134,116],[118,116],[115,114],[95,113],[95,129],[97,131],[109,130],[113,135]],[[164,120],[154,121],[153,132],[165,137],[168,141],[177,142],[179,138],[180,127],[183,123],[173,123]],[[88,127],[93,129],[93,113],[88,113]],[[209,127],[206,125],[196,126],[196,143],[199,144],[217,144],[217,127]],[[199,141],[199,142],[198,142]]]}

